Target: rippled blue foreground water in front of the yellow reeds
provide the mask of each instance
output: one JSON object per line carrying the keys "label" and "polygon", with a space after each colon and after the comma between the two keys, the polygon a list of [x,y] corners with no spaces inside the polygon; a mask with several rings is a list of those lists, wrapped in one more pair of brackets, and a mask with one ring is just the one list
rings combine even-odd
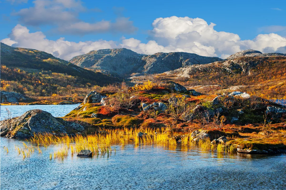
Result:
{"label": "rippled blue foreground water in front of the yellow reeds", "polygon": [[109,157],[49,160],[57,149],[50,146],[23,160],[14,150],[20,140],[0,140],[1,189],[286,189],[286,155],[221,156],[129,144]]}

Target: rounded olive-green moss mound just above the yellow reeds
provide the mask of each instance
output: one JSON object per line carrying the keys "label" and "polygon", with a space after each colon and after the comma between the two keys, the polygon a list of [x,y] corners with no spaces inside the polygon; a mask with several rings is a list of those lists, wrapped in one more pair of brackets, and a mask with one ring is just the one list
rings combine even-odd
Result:
{"label": "rounded olive-green moss mound just above the yellow reeds", "polygon": [[116,115],[112,118],[112,122],[118,127],[136,127],[142,120],[131,115]]}

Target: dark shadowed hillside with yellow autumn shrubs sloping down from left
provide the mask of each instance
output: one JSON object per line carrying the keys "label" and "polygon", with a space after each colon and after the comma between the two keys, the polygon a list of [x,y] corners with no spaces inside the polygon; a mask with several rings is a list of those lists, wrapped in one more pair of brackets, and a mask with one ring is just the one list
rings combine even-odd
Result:
{"label": "dark shadowed hillside with yellow autumn shrubs sloping down from left", "polygon": [[[107,85],[118,78],[80,68],[46,52],[1,43],[1,90],[29,96],[85,93],[84,88]],[[69,89],[76,88],[77,90]]]}

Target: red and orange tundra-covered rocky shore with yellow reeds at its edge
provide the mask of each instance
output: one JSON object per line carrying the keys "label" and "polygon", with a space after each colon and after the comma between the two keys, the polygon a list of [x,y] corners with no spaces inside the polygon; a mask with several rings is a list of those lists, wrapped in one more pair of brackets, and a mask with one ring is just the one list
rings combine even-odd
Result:
{"label": "red and orange tundra-covered rocky shore with yellow reeds at its edge", "polygon": [[74,136],[34,134],[29,139],[32,147],[16,148],[26,158],[35,150],[40,154],[41,146],[60,146],[50,159],[85,149],[94,156],[111,156],[116,146],[128,143],[180,145],[182,149],[198,146],[222,155],[275,154],[286,149],[283,105],[261,94],[194,96],[193,90],[174,91],[175,84],[146,81],[134,87],[124,82],[104,86],[86,95],[79,107],[63,117],[84,126],[84,132]]}

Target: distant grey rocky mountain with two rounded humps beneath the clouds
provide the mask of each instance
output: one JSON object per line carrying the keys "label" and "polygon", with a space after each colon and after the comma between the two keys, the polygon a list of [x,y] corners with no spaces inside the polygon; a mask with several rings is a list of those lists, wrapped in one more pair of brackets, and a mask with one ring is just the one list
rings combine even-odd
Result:
{"label": "distant grey rocky mountain with two rounded humps beneath the clouds", "polygon": [[145,55],[122,48],[90,51],[87,54],[72,58],[69,62],[83,68],[107,70],[121,76],[127,76],[132,73],[163,73],[184,66],[208,64],[221,60],[218,57],[199,56],[186,52]]}

